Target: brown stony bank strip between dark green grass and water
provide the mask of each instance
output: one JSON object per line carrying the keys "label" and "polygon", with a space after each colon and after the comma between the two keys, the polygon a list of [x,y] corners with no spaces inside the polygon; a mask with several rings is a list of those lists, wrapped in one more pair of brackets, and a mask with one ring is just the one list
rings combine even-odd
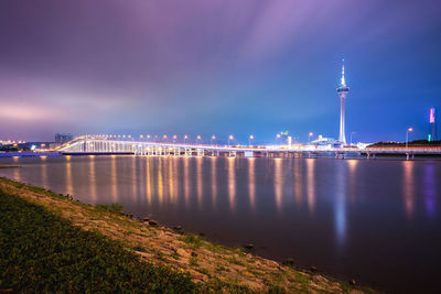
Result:
{"label": "brown stony bank strip between dark green grass and water", "polygon": [[41,205],[82,229],[120,241],[127,250],[148,262],[190,273],[206,292],[376,293],[368,287],[323,276],[315,269],[313,272],[300,271],[292,263],[283,265],[244,249],[214,244],[200,236],[184,233],[181,228],[131,219],[108,206],[74,200],[71,195],[55,194],[4,177],[0,177],[0,188]]}

